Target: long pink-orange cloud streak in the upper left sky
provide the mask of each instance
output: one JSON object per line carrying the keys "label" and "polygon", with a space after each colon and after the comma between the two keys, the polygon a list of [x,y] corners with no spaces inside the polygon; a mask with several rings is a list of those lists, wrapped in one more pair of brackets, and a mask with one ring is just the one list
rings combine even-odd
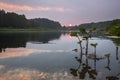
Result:
{"label": "long pink-orange cloud streak in the upper left sky", "polygon": [[42,7],[42,6],[20,6],[20,5],[13,5],[8,4],[5,2],[0,2],[0,8],[8,10],[8,11],[57,11],[57,12],[65,12],[70,11],[70,9],[65,9],[62,7]]}

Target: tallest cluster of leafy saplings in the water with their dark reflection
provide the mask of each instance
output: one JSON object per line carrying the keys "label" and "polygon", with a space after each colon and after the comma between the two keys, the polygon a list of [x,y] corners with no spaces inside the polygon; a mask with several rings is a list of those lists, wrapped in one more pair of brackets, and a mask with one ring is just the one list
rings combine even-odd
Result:
{"label": "tallest cluster of leafy saplings in the water with their dark reflection", "polygon": [[[93,28],[93,29],[91,29],[89,31],[85,30],[84,28],[81,28],[80,32],[73,32],[73,33],[71,33],[71,36],[75,36],[79,40],[78,43],[80,45],[81,55],[83,54],[82,53],[82,45],[81,45],[82,40],[86,41],[86,47],[85,47],[86,62],[83,63],[82,62],[82,58],[76,58],[76,60],[80,63],[79,67],[77,69],[73,69],[73,68],[70,69],[71,74],[74,75],[74,76],[79,76],[79,79],[85,79],[86,74],[88,74],[89,78],[92,78],[92,79],[96,79],[96,76],[97,76],[97,71],[96,71],[96,46],[97,46],[97,43],[96,44],[92,44],[92,46],[95,48],[94,49],[94,54],[92,55],[92,57],[94,57],[93,59],[94,59],[95,69],[92,69],[88,65],[88,58],[87,58],[87,56],[89,56],[89,54],[88,54],[89,38],[91,38],[91,33],[94,30],[95,30],[95,28]],[[79,33],[81,33],[83,35],[82,39],[80,39]]]}

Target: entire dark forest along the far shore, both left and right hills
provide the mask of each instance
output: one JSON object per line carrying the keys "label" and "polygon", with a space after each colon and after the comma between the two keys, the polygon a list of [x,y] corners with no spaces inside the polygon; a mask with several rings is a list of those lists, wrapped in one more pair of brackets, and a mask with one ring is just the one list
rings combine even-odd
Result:
{"label": "entire dark forest along the far shore, both left and right hills", "polygon": [[0,10],[0,29],[14,28],[14,29],[39,29],[39,30],[64,30],[75,31],[80,28],[91,29],[96,27],[99,33],[120,36],[120,19],[111,21],[92,22],[80,24],[72,27],[61,26],[57,21],[49,20],[47,18],[27,19],[25,15],[18,15],[14,12],[5,12]]}

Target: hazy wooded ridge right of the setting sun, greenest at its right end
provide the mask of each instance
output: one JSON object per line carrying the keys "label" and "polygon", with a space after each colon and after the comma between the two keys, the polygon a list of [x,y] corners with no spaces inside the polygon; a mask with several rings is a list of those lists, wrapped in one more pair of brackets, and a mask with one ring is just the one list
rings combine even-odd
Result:
{"label": "hazy wooded ridge right of the setting sun, greenest at its right end", "polygon": [[92,23],[85,23],[70,27],[69,30],[79,30],[80,28],[84,28],[89,30],[95,27],[97,32],[100,33],[107,33],[111,35],[120,36],[120,19],[114,19],[111,21],[103,21],[103,22],[92,22]]}

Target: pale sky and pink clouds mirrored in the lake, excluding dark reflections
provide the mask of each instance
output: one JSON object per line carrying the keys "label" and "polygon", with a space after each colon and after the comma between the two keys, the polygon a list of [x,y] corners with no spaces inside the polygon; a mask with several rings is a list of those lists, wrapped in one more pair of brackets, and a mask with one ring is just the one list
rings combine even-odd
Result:
{"label": "pale sky and pink clouds mirrored in the lake, excluding dark reflections", "polygon": [[[111,54],[112,71],[110,74],[118,74],[120,65],[117,62],[120,60],[116,61],[115,46],[112,41],[94,38],[89,41],[89,44],[96,42],[98,43],[97,55]],[[0,53],[0,80],[73,80],[69,69],[76,68],[79,64],[74,59],[79,56],[79,52],[72,52],[72,49],[79,48],[77,39],[71,38],[69,35],[62,35],[59,39],[51,40],[50,43],[53,44],[28,42],[26,48],[7,48],[5,52]],[[84,44],[85,42],[83,42],[83,46],[85,46]],[[93,47],[89,47],[89,51],[93,52]],[[83,59],[84,61],[85,59]],[[89,60],[89,65],[94,67],[93,60]],[[98,78],[101,79],[101,76],[108,73],[104,68],[107,65],[107,59],[97,61],[96,65],[99,70]]]}

